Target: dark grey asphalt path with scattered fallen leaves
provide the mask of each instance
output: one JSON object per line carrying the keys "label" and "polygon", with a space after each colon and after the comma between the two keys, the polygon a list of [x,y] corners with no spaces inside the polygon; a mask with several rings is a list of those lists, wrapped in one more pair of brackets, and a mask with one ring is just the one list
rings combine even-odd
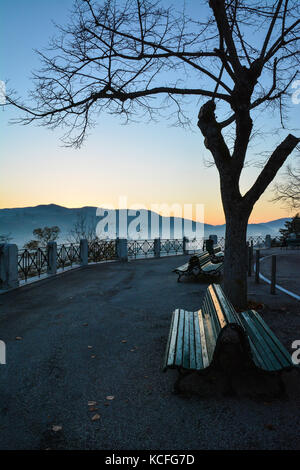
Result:
{"label": "dark grey asphalt path with scattered fallen leaves", "polygon": [[207,287],[176,282],[185,260],[99,264],[0,296],[0,449],[299,448],[293,372],[284,402],[252,382],[225,399],[215,376],[172,393],[176,372],[160,370],[171,312],[199,308]]}

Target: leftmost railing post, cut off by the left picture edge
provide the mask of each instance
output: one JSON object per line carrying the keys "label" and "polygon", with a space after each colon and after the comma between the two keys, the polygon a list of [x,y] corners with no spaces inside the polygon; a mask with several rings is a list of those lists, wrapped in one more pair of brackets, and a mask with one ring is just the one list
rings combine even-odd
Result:
{"label": "leftmost railing post, cut off by the left picture edge", "polygon": [[1,243],[0,289],[13,289],[18,285],[18,247],[14,243]]}

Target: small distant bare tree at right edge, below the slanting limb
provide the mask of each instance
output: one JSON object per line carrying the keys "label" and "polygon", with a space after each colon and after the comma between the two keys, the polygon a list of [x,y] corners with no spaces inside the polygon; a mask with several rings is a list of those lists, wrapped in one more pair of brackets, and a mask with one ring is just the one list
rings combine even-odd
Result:
{"label": "small distant bare tree at right edge, below the slanting limb", "polygon": [[287,166],[284,181],[274,185],[274,202],[283,204],[292,209],[300,208],[300,167]]}

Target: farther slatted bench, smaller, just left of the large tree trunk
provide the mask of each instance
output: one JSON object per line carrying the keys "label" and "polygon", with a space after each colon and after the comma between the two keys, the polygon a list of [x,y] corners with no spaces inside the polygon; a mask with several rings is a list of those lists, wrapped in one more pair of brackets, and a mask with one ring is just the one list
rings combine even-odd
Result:
{"label": "farther slatted bench, smaller, just left of the large tree trunk", "polygon": [[[196,257],[198,262],[194,264],[191,261]],[[198,255],[192,256],[187,263],[173,269],[173,272],[178,274],[177,281],[180,282],[182,276],[193,276],[194,278],[220,276],[222,267],[223,262],[213,262],[211,255],[207,251],[203,251]]]}

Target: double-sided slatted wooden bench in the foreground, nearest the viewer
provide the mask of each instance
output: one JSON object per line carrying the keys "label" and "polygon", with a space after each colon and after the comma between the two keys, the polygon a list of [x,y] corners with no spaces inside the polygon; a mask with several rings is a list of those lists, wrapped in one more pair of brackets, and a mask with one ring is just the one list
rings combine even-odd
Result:
{"label": "double-sided slatted wooden bench in the foreground, nearest the viewer", "polygon": [[296,367],[261,316],[254,310],[236,313],[217,284],[208,287],[197,312],[174,311],[163,363],[164,371],[179,371],[176,392],[185,376],[213,367],[226,373],[228,393],[234,393],[233,375],[245,368],[276,374],[282,392],[280,373]]}

